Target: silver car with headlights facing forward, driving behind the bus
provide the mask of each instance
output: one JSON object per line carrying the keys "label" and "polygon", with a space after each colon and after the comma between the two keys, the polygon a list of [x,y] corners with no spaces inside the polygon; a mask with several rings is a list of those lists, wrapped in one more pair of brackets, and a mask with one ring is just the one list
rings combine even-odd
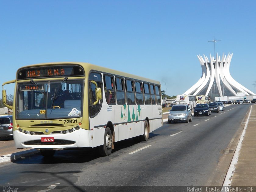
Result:
{"label": "silver car with headlights facing forward, driving behind the bus", "polygon": [[168,123],[174,121],[192,121],[191,109],[188,105],[173,105],[169,112]]}

